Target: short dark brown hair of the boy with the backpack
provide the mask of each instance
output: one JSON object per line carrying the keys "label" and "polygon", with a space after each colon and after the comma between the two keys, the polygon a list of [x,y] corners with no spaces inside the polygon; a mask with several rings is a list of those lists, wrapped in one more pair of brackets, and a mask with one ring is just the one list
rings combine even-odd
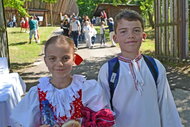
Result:
{"label": "short dark brown hair of the boy with the backpack", "polygon": [[115,22],[114,23],[115,32],[116,32],[118,22],[121,19],[125,19],[125,20],[128,20],[128,21],[137,21],[137,20],[139,20],[141,22],[142,29],[144,30],[144,21],[143,21],[142,16],[136,11],[126,9],[126,10],[123,10],[122,12],[118,13],[116,15],[116,17],[115,17],[115,21],[114,21]]}

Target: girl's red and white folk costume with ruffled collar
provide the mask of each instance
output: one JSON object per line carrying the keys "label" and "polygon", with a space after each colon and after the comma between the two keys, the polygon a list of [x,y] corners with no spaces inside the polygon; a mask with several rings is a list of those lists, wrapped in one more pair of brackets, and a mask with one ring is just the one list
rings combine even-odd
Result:
{"label": "girl's red and white folk costume with ruffled collar", "polygon": [[[55,88],[50,82],[50,77],[43,77],[16,106],[11,119],[23,127],[38,127],[43,124],[62,126],[68,120],[81,122],[82,118],[85,120],[83,125],[113,125],[112,112],[106,109],[107,114],[102,114],[108,106],[103,95],[95,80],[86,80],[81,75],[73,75],[72,83],[64,89]],[[96,113],[101,115],[98,116]],[[92,120],[91,116],[97,119]]]}

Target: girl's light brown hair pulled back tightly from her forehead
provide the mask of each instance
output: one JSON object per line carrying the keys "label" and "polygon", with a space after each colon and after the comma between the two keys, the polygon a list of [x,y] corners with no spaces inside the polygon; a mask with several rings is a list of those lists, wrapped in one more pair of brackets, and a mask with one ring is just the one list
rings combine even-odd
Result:
{"label": "girl's light brown hair pulled back tightly from her forehead", "polygon": [[44,47],[44,54],[46,56],[46,51],[47,51],[47,47],[51,44],[69,44],[69,47],[73,50],[74,52],[74,42],[72,39],[70,39],[67,36],[64,35],[57,35],[57,36],[53,36],[50,39],[47,40],[47,42],[45,43],[45,47]]}

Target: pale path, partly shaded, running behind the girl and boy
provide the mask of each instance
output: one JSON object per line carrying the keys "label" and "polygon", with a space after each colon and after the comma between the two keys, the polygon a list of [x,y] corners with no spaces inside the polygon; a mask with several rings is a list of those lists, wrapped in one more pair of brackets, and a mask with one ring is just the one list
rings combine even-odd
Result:
{"label": "pale path, partly shaded, running behind the girl and boy", "polygon": [[[60,31],[56,31],[55,34],[60,34]],[[88,79],[96,79],[100,66],[119,52],[118,47],[110,47],[109,44],[106,48],[100,48],[100,44],[96,43],[93,49],[85,48],[85,44],[80,44],[77,53],[84,61],[80,66],[74,67],[73,73],[86,75]],[[166,69],[182,123],[185,127],[190,127],[190,77],[177,72],[174,68],[166,67]],[[33,67],[24,70],[20,75],[27,84],[27,90],[36,85],[40,77],[49,75],[43,62],[43,55],[33,64]]]}

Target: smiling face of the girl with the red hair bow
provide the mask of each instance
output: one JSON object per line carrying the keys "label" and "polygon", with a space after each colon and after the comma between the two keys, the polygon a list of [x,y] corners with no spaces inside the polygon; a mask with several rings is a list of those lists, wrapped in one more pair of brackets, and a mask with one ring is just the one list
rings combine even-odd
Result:
{"label": "smiling face of the girl with the red hair bow", "polygon": [[71,76],[74,65],[74,51],[68,43],[50,44],[44,58],[46,66],[53,78],[67,78]]}

